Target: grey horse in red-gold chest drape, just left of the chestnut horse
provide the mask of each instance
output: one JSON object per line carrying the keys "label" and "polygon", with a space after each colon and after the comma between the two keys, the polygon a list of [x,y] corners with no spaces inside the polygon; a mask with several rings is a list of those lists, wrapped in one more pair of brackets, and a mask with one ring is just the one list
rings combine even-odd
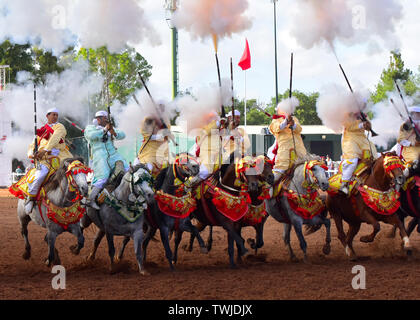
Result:
{"label": "grey horse in red-gold chest drape, just left of the chestnut horse", "polygon": [[330,253],[331,223],[327,218],[325,205],[318,195],[319,188],[322,191],[328,189],[327,170],[320,161],[320,157],[307,155],[285,173],[285,180],[280,179],[276,184],[278,193],[274,193],[272,198],[266,200],[268,214],[278,222],[284,223],[283,241],[287,246],[291,261],[297,261],[290,245],[292,226],[299,239],[305,263],[309,260],[306,253],[307,243],[302,233],[303,224],[315,227],[325,226],[326,238],[322,251],[326,255]]}

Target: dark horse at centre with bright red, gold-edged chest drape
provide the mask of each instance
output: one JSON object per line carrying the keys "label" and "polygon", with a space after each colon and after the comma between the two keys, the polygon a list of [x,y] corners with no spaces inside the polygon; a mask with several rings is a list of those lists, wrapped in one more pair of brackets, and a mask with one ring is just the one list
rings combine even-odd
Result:
{"label": "dark horse at centre with bright red, gold-edged chest drape", "polygon": [[[245,241],[240,236],[240,219],[247,213],[251,203],[248,193],[258,192],[260,182],[255,168],[248,167],[244,159],[240,160],[241,165],[238,164],[231,155],[228,164],[222,165],[219,171],[200,185],[201,197],[192,214],[204,226],[222,226],[227,231],[231,268],[237,268],[234,262],[234,243],[238,248],[238,257],[248,254],[248,249],[244,246]],[[207,187],[207,191],[204,191]],[[176,246],[179,245],[181,237],[182,233],[178,233],[175,239]],[[210,247],[211,245],[208,248]]]}

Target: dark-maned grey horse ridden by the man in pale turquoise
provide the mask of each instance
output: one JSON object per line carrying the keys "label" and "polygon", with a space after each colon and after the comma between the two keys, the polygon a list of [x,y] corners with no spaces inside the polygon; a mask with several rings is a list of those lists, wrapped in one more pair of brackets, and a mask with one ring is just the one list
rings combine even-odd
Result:
{"label": "dark-maned grey horse ridden by the man in pale turquoise", "polygon": [[94,239],[94,247],[88,256],[89,260],[95,259],[96,250],[102,238],[106,236],[111,259],[111,273],[114,273],[114,236],[125,236],[125,242],[128,242],[130,238],[134,241],[134,252],[140,274],[148,274],[143,263],[145,222],[143,213],[154,201],[154,191],[151,186],[150,172],[144,165],[138,164],[125,173],[119,186],[107,195],[100,210],[88,209],[87,216],[81,220],[82,228],[87,228],[91,222],[99,228]]}

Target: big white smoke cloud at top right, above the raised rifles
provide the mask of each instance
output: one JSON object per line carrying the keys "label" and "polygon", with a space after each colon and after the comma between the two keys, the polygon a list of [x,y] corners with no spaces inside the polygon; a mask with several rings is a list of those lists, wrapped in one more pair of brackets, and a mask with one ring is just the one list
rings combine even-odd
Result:
{"label": "big white smoke cloud at top right, above the raised rifles", "polygon": [[398,46],[394,32],[403,14],[397,0],[380,5],[371,0],[298,0],[296,9],[291,35],[306,49],[324,41],[331,46],[369,42],[371,52]]}

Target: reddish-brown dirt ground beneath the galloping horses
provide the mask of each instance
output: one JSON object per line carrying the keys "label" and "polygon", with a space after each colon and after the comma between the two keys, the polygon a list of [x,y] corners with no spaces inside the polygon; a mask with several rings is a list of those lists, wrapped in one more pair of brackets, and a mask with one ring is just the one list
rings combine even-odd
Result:
{"label": "reddish-brown dirt ground beneath the galloping horses", "polygon": [[[364,225],[356,236],[354,248],[360,259],[350,262],[337,239],[332,223],[332,249],[322,254],[325,229],[306,237],[310,264],[302,262],[302,251],[295,233],[292,246],[299,262],[290,262],[282,240],[283,226],[271,217],[264,230],[264,247],[257,255],[250,255],[239,269],[229,268],[226,233],[214,229],[212,251],[201,254],[180,250],[176,271],[169,270],[160,241],[151,242],[147,270],[150,276],[140,276],[134,258],[132,242],[126,249],[120,272],[109,274],[107,244],[104,239],[97,258],[87,262],[92,249],[93,230],[85,232],[85,247],[74,256],[69,246],[76,239],[69,233],[58,237],[56,247],[66,269],[66,289],[54,290],[55,274],[43,261],[47,245],[43,241],[45,229],[35,223],[29,225],[32,257],[22,259],[24,241],[16,217],[17,199],[0,190],[0,299],[122,299],[122,300],[284,300],[284,299],[418,299],[420,297],[420,236],[410,237],[414,247],[413,259],[408,261],[401,249],[401,239],[386,237],[390,226],[382,230],[371,244],[359,241],[361,235],[371,232]],[[244,238],[254,237],[254,229],[246,228]],[[207,231],[203,232],[204,239]],[[187,243],[184,234],[181,246]],[[117,250],[121,238],[116,239]],[[355,265],[366,270],[366,289],[352,288]]]}

